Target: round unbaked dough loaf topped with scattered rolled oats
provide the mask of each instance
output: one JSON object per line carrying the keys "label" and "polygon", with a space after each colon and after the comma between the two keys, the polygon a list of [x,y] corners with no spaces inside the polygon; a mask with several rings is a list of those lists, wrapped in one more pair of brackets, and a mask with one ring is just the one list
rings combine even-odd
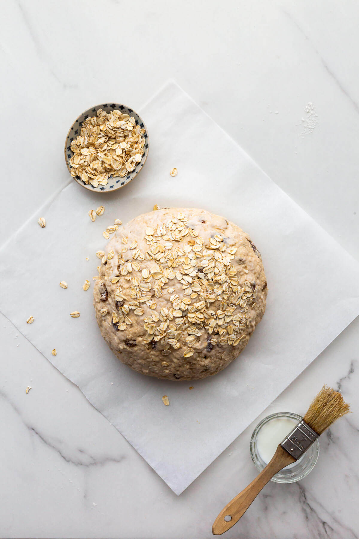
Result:
{"label": "round unbaked dough loaf topped with scattered rolled oats", "polygon": [[118,228],[94,306],[122,363],[148,376],[196,380],[242,352],[266,295],[261,254],[248,234],[205,210],[164,208]]}

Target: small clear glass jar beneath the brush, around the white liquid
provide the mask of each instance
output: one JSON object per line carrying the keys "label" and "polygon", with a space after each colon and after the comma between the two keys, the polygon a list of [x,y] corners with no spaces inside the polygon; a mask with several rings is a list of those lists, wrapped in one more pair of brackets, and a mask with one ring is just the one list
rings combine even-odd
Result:
{"label": "small clear glass jar beneath the brush, around the white liquid", "polygon": [[[272,413],[270,416],[265,417],[258,423],[255,430],[253,431],[251,441],[250,441],[250,454],[252,457],[252,460],[256,466],[256,468],[259,470],[259,472],[262,472],[263,468],[266,467],[268,462],[265,462],[261,456],[261,453],[258,451],[258,434],[261,432],[261,429],[264,425],[269,426],[269,422],[273,419],[292,419],[293,427],[299,423],[299,421],[302,420],[302,417],[298,416],[296,413],[291,412],[278,412],[278,413]],[[292,428],[293,428],[292,427]],[[288,430],[287,434],[290,433],[292,430]],[[270,431],[269,431],[270,432]],[[262,432],[263,433],[263,432]],[[267,433],[268,436],[268,433]],[[283,438],[285,435],[283,436]],[[280,444],[282,440],[279,440],[278,443]],[[274,454],[274,453],[273,453]],[[293,464],[290,464],[289,466],[286,466],[285,468],[281,469],[274,477],[271,479],[271,481],[274,481],[276,483],[293,483],[294,481],[299,481],[300,479],[303,479],[308,473],[311,471],[311,469],[314,467],[315,462],[318,459],[319,455],[319,441],[316,439],[313,445],[309,447],[309,449],[298,459],[297,461],[293,462]]]}

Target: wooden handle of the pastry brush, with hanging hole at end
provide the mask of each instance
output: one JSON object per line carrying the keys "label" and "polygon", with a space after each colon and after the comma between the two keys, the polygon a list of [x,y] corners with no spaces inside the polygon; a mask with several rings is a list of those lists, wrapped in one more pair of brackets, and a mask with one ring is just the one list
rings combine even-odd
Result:
{"label": "wooden handle of the pastry brush, with hanging hole at end", "polygon": [[[273,475],[276,475],[279,470],[295,462],[295,458],[292,457],[281,445],[278,445],[274,457],[257,475],[248,487],[245,487],[240,494],[237,494],[226,507],[222,509],[221,513],[217,516],[212,526],[213,535],[222,535],[225,531],[229,530],[241,516],[247,511],[255,497],[261,492],[262,488],[270,481]],[[231,519],[229,521],[224,520],[224,517],[229,515]]]}

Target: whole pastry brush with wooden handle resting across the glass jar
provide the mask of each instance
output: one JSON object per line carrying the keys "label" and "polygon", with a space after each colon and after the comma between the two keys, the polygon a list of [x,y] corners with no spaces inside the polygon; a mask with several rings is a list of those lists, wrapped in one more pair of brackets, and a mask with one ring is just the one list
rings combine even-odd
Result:
{"label": "whole pastry brush with wooden handle resting across the glass jar", "polygon": [[213,535],[222,535],[247,511],[255,497],[279,470],[298,460],[334,421],[350,412],[338,391],[323,385],[304,418],[278,445],[272,460],[248,487],[222,509],[212,526]]}

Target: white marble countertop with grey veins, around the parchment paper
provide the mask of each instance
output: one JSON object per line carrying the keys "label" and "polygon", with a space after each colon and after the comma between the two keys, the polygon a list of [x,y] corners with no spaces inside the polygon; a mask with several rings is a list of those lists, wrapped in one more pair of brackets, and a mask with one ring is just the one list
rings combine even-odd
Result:
{"label": "white marble countertop with grey veins, around the parchment paper", "polygon": [[[107,99],[138,109],[174,78],[359,260],[357,2],[23,0],[0,12],[2,241],[68,181],[56,115],[70,124]],[[42,152],[61,185],[41,167]],[[212,537],[216,515],[256,474],[255,424],[176,496],[0,318],[0,536]],[[307,478],[269,483],[227,537],[359,536],[358,330],[356,319],[268,410],[304,413],[326,382],[354,413],[323,434]]]}

